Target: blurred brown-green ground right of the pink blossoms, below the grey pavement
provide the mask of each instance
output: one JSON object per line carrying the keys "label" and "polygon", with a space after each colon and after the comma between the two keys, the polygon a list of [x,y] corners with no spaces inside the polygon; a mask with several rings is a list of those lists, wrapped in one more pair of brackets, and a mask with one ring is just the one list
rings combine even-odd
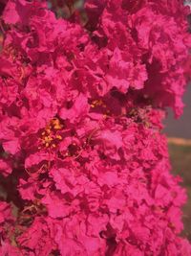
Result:
{"label": "blurred brown-green ground right of the pink blossoms, below the grey pavement", "polygon": [[172,172],[183,179],[182,186],[186,188],[188,201],[183,207],[183,235],[191,241],[191,143],[181,144],[169,142],[169,153],[172,163]]}

